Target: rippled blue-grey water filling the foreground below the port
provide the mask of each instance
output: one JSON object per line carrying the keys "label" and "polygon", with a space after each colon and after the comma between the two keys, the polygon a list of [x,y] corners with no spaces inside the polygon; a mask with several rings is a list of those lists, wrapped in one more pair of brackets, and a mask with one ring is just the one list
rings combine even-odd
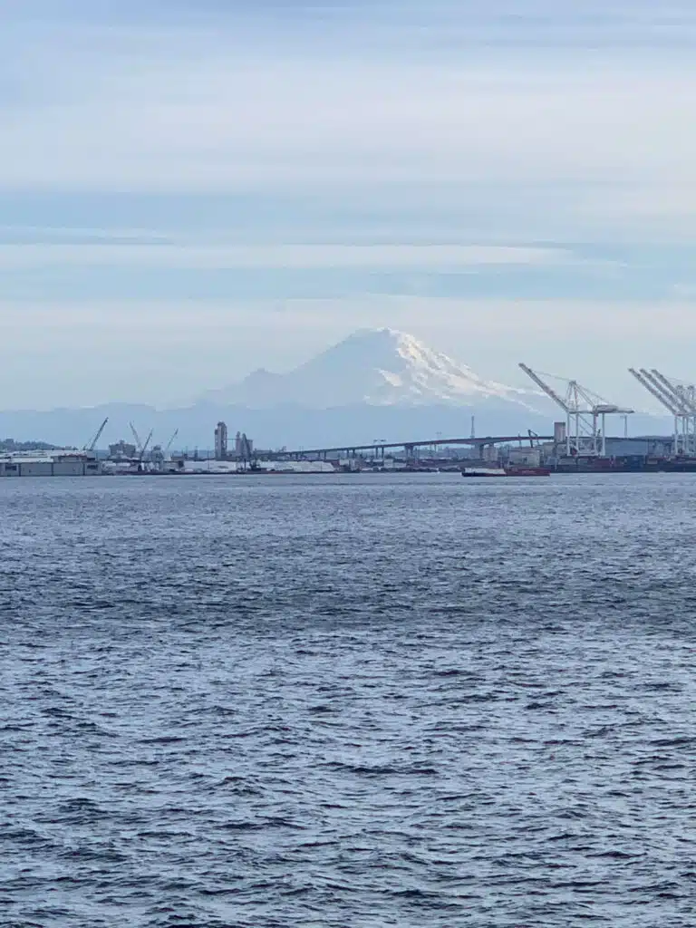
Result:
{"label": "rippled blue-grey water filling the foreground below the port", "polygon": [[0,481],[0,924],[693,924],[695,498]]}

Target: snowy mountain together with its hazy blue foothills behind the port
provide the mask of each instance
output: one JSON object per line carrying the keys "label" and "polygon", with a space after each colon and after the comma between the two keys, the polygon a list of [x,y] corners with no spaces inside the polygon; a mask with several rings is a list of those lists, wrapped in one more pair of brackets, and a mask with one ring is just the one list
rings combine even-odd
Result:
{"label": "snowy mountain together with its hazy blue foothills behind the port", "polygon": [[[166,444],[178,429],[182,450],[212,449],[224,420],[230,434],[246,432],[260,447],[345,447],[468,437],[472,418],[477,435],[549,434],[559,413],[542,394],[485,380],[398,329],[358,329],[286,374],[258,368],[188,404],[0,411],[0,438],[81,447],[109,417],[102,446],[127,438],[132,420],[138,431],[154,429],[154,442]],[[640,419],[632,419],[634,434],[665,423]]]}

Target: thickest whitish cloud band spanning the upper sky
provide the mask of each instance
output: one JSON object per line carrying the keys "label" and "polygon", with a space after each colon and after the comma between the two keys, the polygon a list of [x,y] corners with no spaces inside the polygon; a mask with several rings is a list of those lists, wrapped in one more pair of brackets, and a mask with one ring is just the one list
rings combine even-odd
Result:
{"label": "thickest whitish cloud band spanning the upper sky", "polygon": [[300,63],[269,72],[224,61],[117,75],[97,100],[0,117],[0,183],[210,191],[662,180],[691,195],[696,185],[691,77],[337,65],[316,78]]}

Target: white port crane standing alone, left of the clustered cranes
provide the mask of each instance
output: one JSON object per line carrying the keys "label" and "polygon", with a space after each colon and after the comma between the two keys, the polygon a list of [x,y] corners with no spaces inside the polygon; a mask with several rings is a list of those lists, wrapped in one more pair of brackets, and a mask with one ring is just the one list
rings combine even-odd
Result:
{"label": "white port crane standing alone, left of the clustered cranes", "polygon": [[[554,388],[540,376],[543,371],[536,372],[531,367],[520,362],[520,367],[533,380],[548,398],[553,400],[565,413],[565,443],[566,454],[606,457],[607,432],[606,417],[612,414],[622,416],[630,415],[633,409],[607,403],[597,393],[592,393],[577,380],[564,380],[556,378],[553,374],[544,374],[545,378],[564,380],[565,394],[561,396]],[[599,423],[601,422],[601,427]]]}

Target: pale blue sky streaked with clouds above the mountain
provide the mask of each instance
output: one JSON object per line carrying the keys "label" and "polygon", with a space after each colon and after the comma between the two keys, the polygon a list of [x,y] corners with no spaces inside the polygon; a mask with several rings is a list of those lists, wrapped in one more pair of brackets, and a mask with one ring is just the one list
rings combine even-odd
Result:
{"label": "pale blue sky streaked with clouds above the mountain", "polygon": [[363,327],[696,378],[696,5],[0,0],[3,408],[169,405]]}

